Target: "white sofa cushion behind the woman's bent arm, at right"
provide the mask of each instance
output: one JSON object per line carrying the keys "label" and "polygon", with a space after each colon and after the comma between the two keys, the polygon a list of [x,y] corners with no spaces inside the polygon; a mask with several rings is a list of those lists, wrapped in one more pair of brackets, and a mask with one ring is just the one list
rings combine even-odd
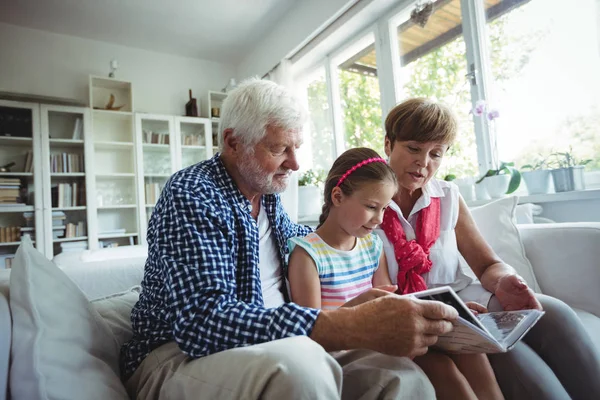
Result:
{"label": "white sofa cushion behind the woman's bent arm, at right", "polygon": [[[512,266],[534,291],[540,292],[533,267],[525,256],[525,248],[515,224],[518,201],[516,196],[504,197],[471,208],[470,211],[477,228],[498,257]],[[470,271],[470,268],[468,270]]]}

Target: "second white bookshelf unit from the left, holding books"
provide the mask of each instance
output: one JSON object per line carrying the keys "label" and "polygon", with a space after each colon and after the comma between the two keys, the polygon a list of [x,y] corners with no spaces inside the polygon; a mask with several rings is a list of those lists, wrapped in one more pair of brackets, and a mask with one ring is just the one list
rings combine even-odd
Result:
{"label": "second white bookshelf unit from the left, holding books", "polygon": [[[91,111],[85,107],[41,105],[42,172],[44,209],[44,246],[46,257],[59,254],[60,243],[83,241],[92,247],[87,230],[95,217],[87,207],[92,170],[86,157],[85,143],[89,140]],[[62,218],[64,214],[64,218]],[[57,217],[57,218],[55,218]],[[83,223],[83,231],[66,237],[69,224]],[[56,226],[64,226],[57,230]]]}

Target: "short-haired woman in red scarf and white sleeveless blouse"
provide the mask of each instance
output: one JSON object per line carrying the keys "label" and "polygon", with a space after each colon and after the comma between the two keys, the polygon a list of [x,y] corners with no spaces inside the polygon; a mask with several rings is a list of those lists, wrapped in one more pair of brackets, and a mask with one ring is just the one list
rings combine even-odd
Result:
{"label": "short-haired woman in red scarf and white sleeveless blouse", "polygon": [[[452,112],[410,99],[390,111],[385,130],[385,153],[400,189],[377,233],[393,283],[403,293],[449,285],[492,311],[544,309],[513,350],[489,356],[504,395],[599,399],[600,355],[576,314],[555,298],[534,294],[485,242],[456,185],[434,178],[456,137]],[[464,274],[459,255],[480,282]]]}

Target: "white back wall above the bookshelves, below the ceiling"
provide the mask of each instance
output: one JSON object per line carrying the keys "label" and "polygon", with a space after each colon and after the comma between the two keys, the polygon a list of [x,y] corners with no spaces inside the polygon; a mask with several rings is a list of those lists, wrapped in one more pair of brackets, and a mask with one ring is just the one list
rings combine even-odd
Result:
{"label": "white back wall above the bookshelves, below the ceiling", "polygon": [[235,66],[0,24],[0,91],[75,99],[88,104],[90,74],[131,81],[134,111],[185,113],[188,89],[205,101],[235,76]]}

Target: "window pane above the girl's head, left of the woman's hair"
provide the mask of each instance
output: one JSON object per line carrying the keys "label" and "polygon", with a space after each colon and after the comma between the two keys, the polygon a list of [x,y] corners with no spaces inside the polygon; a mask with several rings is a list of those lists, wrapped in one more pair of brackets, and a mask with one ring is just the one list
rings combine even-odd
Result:
{"label": "window pane above the girl's head, left of the woman's hair", "polygon": [[373,34],[358,40],[336,60],[337,88],[347,149],[369,147],[384,155],[381,95]]}

